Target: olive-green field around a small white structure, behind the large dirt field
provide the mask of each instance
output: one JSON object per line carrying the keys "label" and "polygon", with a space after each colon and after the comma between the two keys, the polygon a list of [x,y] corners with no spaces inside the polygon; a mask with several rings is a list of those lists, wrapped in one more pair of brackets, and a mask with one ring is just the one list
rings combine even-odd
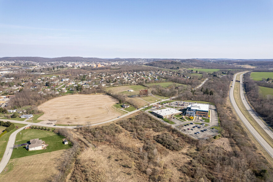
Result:
{"label": "olive-green field around a small white structure, behind the large dirt field", "polygon": [[[107,87],[105,91],[111,91],[112,93],[121,93],[122,95],[137,95],[139,90],[147,89],[142,85],[126,85],[126,86],[116,86],[116,87]],[[134,90],[134,92],[128,92],[127,90]]]}

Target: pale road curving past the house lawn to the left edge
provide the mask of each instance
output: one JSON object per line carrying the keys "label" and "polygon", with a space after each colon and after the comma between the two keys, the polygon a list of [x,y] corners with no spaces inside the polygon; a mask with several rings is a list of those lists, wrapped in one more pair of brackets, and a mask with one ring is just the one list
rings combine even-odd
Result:
{"label": "pale road curving past the house lawn to the left edge", "polygon": [[[29,127],[30,125],[27,125],[25,127]],[[15,137],[17,135],[17,133],[19,133],[21,130],[23,130],[25,127],[19,128],[18,130],[16,130],[15,132],[11,133],[11,136],[9,138],[9,141],[6,145],[6,150],[5,153],[3,155],[3,158],[0,162],[0,173],[5,169],[7,163],[9,162],[10,158],[11,158],[11,154],[13,151],[13,145],[15,142]]]}

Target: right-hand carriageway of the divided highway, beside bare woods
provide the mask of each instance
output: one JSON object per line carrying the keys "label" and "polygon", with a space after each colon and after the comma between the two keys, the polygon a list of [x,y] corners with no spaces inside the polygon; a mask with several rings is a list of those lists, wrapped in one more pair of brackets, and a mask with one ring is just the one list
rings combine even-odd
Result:
{"label": "right-hand carriageway of the divided highway, beside bare woods", "polygon": [[270,128],[264,123],[250,106],[250,104],[247,102],[245,98],[245,92],[243,89],[243,74],[240,76],[240,95],[241,95],[241,100],[246,108],[246,110],[250,113],[250,115],[255,119],[255,121],[261,126],[261,128],[268,134],[273,139],[273,132],[270,130]]}

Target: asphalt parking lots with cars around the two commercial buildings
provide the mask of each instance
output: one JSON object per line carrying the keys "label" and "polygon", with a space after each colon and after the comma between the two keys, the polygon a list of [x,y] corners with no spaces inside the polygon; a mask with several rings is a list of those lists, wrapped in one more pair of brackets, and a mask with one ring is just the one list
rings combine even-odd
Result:
{"label": "asphalt parking lots with cars around the two commercial buildings", "polygon": [[[186,109],[190,103],[191,102],[183,102],[183,101],[182,102],[181,101],[171,102],[170,101],[168,103],[164,103],[164,107],[171,106],[175,109],[181,110],[181,109]],[[192,104],[194,104],[194,103],[192,103]],[[209,106],[210,106],[210,122],[209,123],[201,121],[201,119],[198,119],[198,117],[195,117],[194,121],[181,121],[180,119],[170,118],[170,120],[175,123],[175,124],[171,124],[171,125],[173,127],[177,128],[178,130],[180,130],[182,133],[188,134],[196,139],[204,139],[207,137],[208,138],[213,137],[218,134],[218,130],[211,129],[215,126],[218,126],[218,116],[217,116],[216,107],[214,105],[209,105]],[[160,108],[161,107],[162,106],[160,106]],[[151,108],[150,111],[154,111],[157,109],[159,109],[159,107]],[[184,113],[184,115],[185,115],[185,113]],[[186,125],[186,126],[184,126],[184,125]],[[196,126],[198,126],[200,128],[198,128]]]}

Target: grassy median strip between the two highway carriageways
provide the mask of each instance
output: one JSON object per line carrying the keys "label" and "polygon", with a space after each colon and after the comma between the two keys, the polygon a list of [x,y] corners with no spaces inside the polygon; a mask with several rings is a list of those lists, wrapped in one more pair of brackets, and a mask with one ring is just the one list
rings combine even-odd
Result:
{"label": "grassy median strip between the two highway carriageways", "polygon": [[[238,74],[236,80],[240,79],[240,75]],[[261,126],[255,121],[255,119],[250,115],[250,113],[246,110],[240,96],[240,83],[235,82],[234,87],[234,98],[237,106],[240,108],[240,111],[243,113],[245,118],[250,122],[250,124],[256,129],[256,131],[263,137],[267,143],[273,147],[273,140],[268,134],[261,128]]]}

